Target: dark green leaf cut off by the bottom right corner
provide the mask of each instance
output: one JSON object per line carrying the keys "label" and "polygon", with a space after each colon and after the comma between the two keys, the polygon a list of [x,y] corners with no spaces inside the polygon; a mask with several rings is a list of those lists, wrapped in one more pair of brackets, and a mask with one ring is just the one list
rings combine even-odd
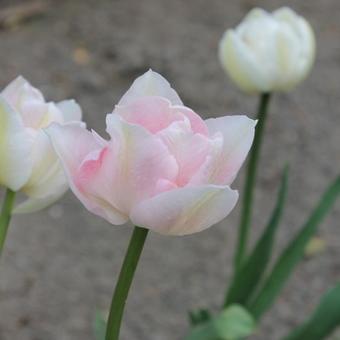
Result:
{"label": "dark green leaf cut off by the bottom right corner", "polygon": [[309,319],[285,340],[321,340],[340,325],[340,284],[329,290]]}

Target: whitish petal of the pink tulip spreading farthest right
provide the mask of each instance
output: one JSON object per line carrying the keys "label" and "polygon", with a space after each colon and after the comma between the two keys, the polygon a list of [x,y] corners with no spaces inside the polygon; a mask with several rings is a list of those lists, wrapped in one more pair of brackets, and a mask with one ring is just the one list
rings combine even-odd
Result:
{"label": "whitish petal of the pink tulip spreading farthest right", "polygon": [[253,143],[256,121],[246,116],[225,116],[205,122],[211,135],[222,134],[223,146],[221,152],[207,160],[192,183],[202,183],[206,177],[208,183],[230,185]]}

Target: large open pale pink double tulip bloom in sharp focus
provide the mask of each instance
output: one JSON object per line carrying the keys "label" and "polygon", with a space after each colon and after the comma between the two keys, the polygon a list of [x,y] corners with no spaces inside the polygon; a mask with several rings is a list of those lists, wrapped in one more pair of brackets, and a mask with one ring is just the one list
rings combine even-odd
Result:
{"label": "large open pale pink double tulip bloom in sharp focus", "polygon": [[184,235],[234,208],[230,189],[254,137],[246,116],[203,121],[158,73],[139,77],[106,117],[107,141],[82,123],[47,133],[70,187],[112,224],[129,219],[162,234]]}

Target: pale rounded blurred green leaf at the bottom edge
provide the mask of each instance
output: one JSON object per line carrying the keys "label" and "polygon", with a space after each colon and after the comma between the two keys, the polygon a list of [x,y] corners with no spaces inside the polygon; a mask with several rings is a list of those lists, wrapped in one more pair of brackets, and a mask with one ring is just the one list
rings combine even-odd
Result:
{"label": "pale rounded blurred green leaf at the bottom edge", "polygon": [[193,328],[185,340],[237,340],[255,329],[254,318],[239,305],[232,305],[216,317]]}

